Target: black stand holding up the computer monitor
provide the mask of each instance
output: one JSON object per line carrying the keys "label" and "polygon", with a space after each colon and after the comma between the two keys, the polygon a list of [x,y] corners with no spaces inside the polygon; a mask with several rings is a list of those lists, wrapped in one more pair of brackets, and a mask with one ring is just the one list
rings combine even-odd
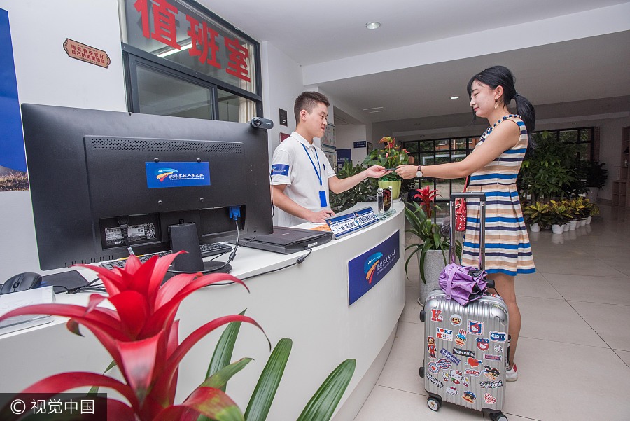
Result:
{"label": "black stand holding up the computer monitor", "polygon": [[[171,250],[174,253],[186,250],[188,253],[180,254],[175,258],[173,265],[165,276],[165,282],[167,279],[179,275],[180,272],[202,272],[202,274],[207,275],[209,273],[229,273],[232,270],[232,266],[229,264],[225,265],[225,262],[203,261],[199,248],[197,226],[195,226],[194,222],[178,223],[169,226],[169,233],[171,235]],[[221,268],[223,265],[225,267]]]}

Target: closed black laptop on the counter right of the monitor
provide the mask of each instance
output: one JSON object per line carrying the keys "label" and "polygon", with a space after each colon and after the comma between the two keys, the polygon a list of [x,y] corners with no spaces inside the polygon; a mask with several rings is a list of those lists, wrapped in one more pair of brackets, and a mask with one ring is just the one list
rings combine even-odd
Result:
{"label": "closed black laptop on the counter right of the monitor", "polygon": [[332,240],[330,231],[274,226],[273,234],[244,237],[239,240],[239,244],[244,247],[252,247],[253,249],[290,254],[304,251],[306,247],[312,248],[325,244],[330,240]]}

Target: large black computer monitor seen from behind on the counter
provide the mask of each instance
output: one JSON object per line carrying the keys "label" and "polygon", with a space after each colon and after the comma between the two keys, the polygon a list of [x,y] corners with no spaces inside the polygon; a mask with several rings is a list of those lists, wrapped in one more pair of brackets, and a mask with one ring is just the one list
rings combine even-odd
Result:
{"label": "large black computer monitor seen from behind on the counter", "polygon": [[267,130],[249,124],[22,104],[41,269],[273,232]]}

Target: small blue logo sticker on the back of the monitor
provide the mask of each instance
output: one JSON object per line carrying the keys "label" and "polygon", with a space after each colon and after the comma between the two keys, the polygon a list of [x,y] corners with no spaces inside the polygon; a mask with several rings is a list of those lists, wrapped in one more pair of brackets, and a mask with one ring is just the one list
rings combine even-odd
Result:
{"label": "small blue logo sticker on the back of the monitor", "polygon": [[148,188],[210,185],[210,163],[145,163]]}

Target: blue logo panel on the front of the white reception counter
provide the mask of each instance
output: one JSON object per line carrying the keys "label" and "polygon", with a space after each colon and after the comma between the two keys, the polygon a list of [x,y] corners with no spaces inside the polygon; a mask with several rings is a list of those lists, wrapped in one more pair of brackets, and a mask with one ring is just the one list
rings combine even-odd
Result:
{"label": "blue logo panel on the front of the white reception counter", "polygon": [[349,304],[361,298],[388,274],[400,257],[400,231],[348,262]]}

